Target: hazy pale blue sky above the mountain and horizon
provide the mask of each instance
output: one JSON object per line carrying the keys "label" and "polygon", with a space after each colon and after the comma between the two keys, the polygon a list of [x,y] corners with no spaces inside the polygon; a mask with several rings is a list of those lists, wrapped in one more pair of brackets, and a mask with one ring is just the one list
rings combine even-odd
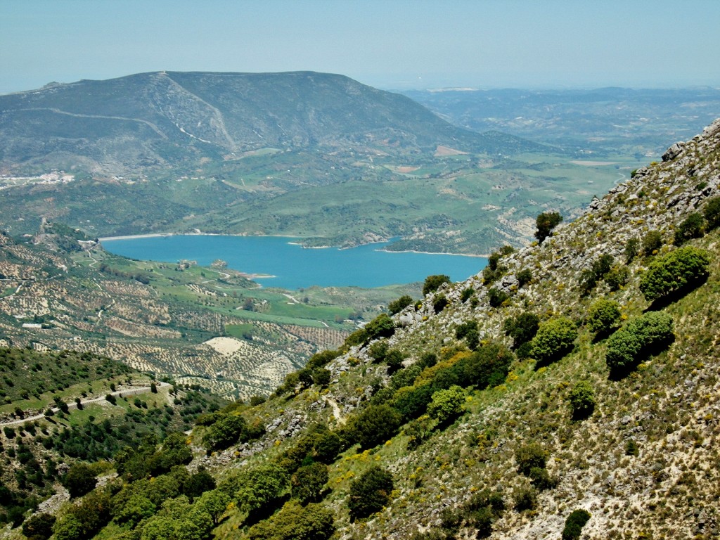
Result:
{"label": "hazy pale blue sky above the mountain and horizon", "polygon": [[719,0],[0,0],[0,93],[143,71],[720,86]]}

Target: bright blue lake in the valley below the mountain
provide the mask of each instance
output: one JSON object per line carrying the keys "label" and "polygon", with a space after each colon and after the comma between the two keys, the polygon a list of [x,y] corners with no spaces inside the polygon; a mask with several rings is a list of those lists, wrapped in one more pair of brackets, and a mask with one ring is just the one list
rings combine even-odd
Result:
{"label": "bright blue lake in the valley below the mountain", "polygon": [[102,240],[110,253],[141,261],[176,263],[181,259],[209,266],[215,259],[246,274],[269,274],[255,279],[266,287],[382,287],[421,282],[431,274],[446,274],[454,282],[481,271],[487,258],[434,253],[382,251],[385,243],[351,249],[307,249],[294,238],[276,236],[174,235]]}

